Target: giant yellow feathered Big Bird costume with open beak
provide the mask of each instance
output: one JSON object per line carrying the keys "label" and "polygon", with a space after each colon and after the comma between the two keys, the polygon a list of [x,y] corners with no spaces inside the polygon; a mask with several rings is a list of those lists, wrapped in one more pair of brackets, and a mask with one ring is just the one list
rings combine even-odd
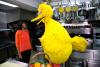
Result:
{"label": "giant yellow feathered Big Bird costume with open beak", "polygon": [[80,52],[85,51],[87,41],[79,36],[71,38],[67,30],[59,22],[52,19],[52,15],[51,6],[42,3],[38,7],[38,16],[31,22],[41,19],[40,22],[45,24],[45,32],[39,38],[41,45],[52,63],[61,64],[69,59],[72,48]]}

